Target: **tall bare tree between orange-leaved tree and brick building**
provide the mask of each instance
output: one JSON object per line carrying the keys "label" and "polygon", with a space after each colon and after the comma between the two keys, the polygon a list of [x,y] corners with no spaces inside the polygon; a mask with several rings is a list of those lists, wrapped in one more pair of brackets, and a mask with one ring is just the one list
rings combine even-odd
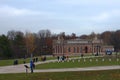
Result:
{"label": "tall bare tree between orange-leaved tree and brick building", "polygon": [[50,49],[52,48],[51,31],[48,29],[40,30],[37,35],[38,35],[37,50],[40,51],[40,54],[45,55],[45,54],[51,53],[50,51]]}

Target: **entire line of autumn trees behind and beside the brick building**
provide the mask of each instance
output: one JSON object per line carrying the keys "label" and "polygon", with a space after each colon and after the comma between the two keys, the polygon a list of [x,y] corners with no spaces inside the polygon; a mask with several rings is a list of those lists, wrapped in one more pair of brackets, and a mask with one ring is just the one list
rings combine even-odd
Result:
{"label": "entire line of autumn trees behind and beside the brick building", "polygon": [[52,55],[52,42],[58,36],[68,39],[93,39],[95,36],[102,39],[105,45],[113,45],[116,51],[120,50],[120,30],[105,31],[101,34],[92,32],[90,35],[76,36],[75,33],[66,35],[65,32],[52,34],[50,30],[40,30],[38,33],[8,31],[7,35],[0,35],[0,59],[23,58],[41,55]]}

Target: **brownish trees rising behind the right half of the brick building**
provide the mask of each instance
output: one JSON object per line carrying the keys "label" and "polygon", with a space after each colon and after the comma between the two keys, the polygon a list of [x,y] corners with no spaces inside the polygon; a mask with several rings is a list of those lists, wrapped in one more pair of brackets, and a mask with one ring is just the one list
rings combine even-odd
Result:
{"label": "brownish trees rising behind the right half of the brick building", "polygon": [[93,39],[97,36],[98,39],[102,39],[104,45],[113,45],[115,51],[120,51],[120,30],[116,31],[105,31],[101,34],[95,34],[92,32],[90,35],[82,35],[82,39]]}

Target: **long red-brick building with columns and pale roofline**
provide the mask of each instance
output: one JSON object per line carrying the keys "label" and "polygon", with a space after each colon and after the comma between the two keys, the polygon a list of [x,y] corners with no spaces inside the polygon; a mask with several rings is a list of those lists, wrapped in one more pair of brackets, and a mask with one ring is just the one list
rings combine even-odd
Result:
{"label": "long red-brick building with columns and pale roofline", "polygon": [[114,50],[113,46],[106,46],[102,40],[94,38],[88,39],[70,39],[64,40],[58,37],[53,41],[53,54],[55,56],[62,55],[81,55],[81,54],[103,54],[106,50]]}

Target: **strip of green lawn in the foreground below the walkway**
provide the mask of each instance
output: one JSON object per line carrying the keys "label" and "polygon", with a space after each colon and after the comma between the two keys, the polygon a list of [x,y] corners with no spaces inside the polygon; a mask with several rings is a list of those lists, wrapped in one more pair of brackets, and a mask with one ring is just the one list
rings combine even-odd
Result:
{"label": "strip of green lawn in the foreground below the walkway", "polygon": [[0,80],[120,80],[120,70],[0,74]]}

